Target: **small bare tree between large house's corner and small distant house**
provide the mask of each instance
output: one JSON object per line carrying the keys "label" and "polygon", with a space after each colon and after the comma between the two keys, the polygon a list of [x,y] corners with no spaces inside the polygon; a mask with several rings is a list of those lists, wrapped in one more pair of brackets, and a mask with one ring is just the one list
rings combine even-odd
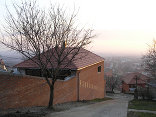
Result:
{"label": "small bare tree between large house's corner and small distant house", "polygon": [[106,87],[111,89],[111,92],[114,92],[115,88],[118,88],[120,85],[120,79],[117,76],[112,76],[112,77],[106,77]]}

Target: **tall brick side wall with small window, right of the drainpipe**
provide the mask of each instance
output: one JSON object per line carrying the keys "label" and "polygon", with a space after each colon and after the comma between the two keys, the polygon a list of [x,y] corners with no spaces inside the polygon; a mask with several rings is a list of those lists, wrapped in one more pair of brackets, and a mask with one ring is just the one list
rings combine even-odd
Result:
{"label": "tall brick side wall with small window, right of the drainpipe", "polygon": [[[101,72],[98,73],[98,66],[101,66]],[[91,100],[94,98],[103,98],[105,96],[104,80],[104,62],[80,70],[80,100]]]}

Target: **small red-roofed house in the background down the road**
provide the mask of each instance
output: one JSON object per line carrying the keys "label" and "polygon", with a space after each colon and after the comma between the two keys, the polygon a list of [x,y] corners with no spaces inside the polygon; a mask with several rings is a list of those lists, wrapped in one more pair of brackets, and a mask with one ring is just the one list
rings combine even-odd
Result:
{"label": "small red-roofed house in the background down the road", "polygon": [[147,82],[150,80],[149,77],[138,73],[128,73],[122,78],[122,92],[123,93],[134,93],[136,84],[139,87],[146,87]]}

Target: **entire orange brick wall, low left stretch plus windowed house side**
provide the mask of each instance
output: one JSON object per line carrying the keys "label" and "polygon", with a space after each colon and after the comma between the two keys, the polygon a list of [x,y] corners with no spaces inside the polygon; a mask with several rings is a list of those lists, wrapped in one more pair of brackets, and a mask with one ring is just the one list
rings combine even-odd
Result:
{"label": "entire orange brick wall, low left stretch plus windowed house side", "polygon": [[[100,73],[98,66],[101,66]],[[104,62],[78,72],[80,100],[105,96]],[[77,86],[76,77],[68,81],[58,80],[54,86],[54,104],[76,101]],[[41,77],[0,74],[0,109],[47,106],[49,93],[49,86]]]}

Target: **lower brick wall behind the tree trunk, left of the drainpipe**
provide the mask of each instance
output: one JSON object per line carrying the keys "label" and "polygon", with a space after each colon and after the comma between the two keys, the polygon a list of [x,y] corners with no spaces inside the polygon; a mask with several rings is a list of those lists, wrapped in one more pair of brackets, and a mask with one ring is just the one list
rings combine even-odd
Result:
{"label": "lower brick wall behind the tree trunk, left of the drainpipe", "polygon": [[[76,78],[57,81],[54,104],[76,100]],[[0,109],[47,106],[49,87],[44,79],[0,74]]]}

